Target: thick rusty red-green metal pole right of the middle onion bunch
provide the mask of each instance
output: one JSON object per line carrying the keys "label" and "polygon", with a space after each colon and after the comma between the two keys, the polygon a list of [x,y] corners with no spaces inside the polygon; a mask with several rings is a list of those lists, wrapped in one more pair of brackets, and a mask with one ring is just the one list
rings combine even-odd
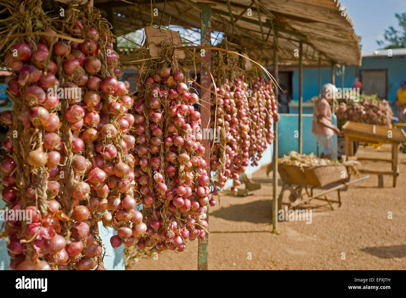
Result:
{"label": "thick rusty red-green metal pole right of the middle onion bunch", "polygon": [[[200,19],[201,19],[201,45],[211,45],[211,25],[210,20],[212,17],[212,6],[208,3],[201,3],[200,8]],[[205,50],[205,55],[202,57],[207,66],[211,67],[211,51]],[[205,65],[201,65],[200,67],[200,85],[205,87],[206,89],[210,90],[210,73],[209,69],[205,67]],[[201,120],[202,120],[202,127],[208,127],[210,121],[210,92],[204,89],[200,90],[200,98],[201,98]],[[202,140],[203,146],[205,147],[205,154],[204,158],[207,162],[207,172],[210,171],[210,140],[203,139]],[[206,220],[208,221],[209,216],[207,214]],[[207,270],[207,246],[208,246],[208,236],[204,240],[199,240],[199,251],[198,251],[198,270]]]}

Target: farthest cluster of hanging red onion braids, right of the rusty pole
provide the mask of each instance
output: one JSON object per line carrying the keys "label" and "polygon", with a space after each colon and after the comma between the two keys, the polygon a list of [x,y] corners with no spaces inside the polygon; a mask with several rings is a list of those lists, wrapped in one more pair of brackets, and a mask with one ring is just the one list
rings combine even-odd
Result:
{"label": "farthest cluster of hanging red onion braids, right of the rusty pole", "polygon": [[245,75],[238,74],[238,66],[222,52],[213,55],[212,72],[216,94],[212,95],[210,126],[220,134],[220,142],[215,142],[218,138],[212,139],[210,169],[215,172],[212,193],[218,194],[227,179],[234,180],[231,192],[237,193],[240,174],[250,158],[251,164],[257,165],[263,151],[272,143],[272,123],[279,120],[276,99],[272,80],[257,77],[256,72],[250,71],[249,75],[255,75],[255,79],[248,90]]}

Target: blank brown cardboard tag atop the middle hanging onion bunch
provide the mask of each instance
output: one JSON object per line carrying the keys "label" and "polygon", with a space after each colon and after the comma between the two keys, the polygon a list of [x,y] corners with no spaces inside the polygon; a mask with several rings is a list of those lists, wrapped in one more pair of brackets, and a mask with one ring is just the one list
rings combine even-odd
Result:
{"label": "blank brown cardboard tag atop the middle hanging onion bunch", "polygon": [[[175,46],[180,46],[182,44],[179,31],[145,27],[145,35],[147,35],[147,45],[151,58],[162,58],[162,55],[160,54],[161,41],[170,41]],[[177,59],[185,58],[185,52],[182,50],[175,50],[174,55]]]}

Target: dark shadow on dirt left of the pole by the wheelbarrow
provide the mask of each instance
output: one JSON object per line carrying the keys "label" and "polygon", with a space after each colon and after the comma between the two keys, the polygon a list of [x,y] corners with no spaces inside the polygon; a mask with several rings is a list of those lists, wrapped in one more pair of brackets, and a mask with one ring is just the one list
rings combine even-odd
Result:
{"label": "dark shadow on dirt left of the pole by the wheelbarrow", "polygon": [[210,212],[210,216],[216,216],[232,221],[271,223],[271,212],[272,200],[266,200],[246,204],[236,204],[231,205],[230,207],[221,207],[219,210]]}

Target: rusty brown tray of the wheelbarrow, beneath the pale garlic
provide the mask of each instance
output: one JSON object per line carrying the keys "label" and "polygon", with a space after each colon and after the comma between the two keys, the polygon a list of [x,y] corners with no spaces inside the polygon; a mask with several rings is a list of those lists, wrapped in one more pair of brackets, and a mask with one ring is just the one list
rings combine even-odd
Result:
{"label": "rusty brown tray of the wheelbarrow, beneath the pale garlic", "polygon": [[348,171],[347,167],[344,165],[309,166],[300,168],[299,166],[292,164],[279,164],[278,172],[283,184],[326,186],[334,182],[342,181],[342,177],[346,177],[345,180],[348,181]]}

